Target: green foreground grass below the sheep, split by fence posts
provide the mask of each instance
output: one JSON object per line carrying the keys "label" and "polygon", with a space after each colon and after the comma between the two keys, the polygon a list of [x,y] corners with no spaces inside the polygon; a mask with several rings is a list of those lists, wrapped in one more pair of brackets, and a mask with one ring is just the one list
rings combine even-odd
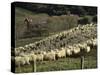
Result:
{"label": "green foreground grass below the sheep, split by fence posts", "polygon": [[[37,62],[37,72],[46,71],[61,71],[61,70],[80,70],[81,69],[81,59],[80,57],[66,57],[61,58],[56,61],[42,61]],[[16,73],[28,73],[34,72],[34,65],[25,65],[21,68],[16,67]],[[84,69],[94,69],[97,68],[97,47],[93,48],[89,54],[85,56],[84,59]],[[21,69],[21,71],[20,71]]]}

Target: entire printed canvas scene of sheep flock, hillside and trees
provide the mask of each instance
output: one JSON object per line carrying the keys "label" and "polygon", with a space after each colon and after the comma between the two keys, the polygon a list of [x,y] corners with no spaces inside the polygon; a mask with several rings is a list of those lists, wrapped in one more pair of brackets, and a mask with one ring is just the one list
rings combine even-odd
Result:
{"label": "entire printed canvas scene of sheep flock, hillside and trees", "polygon": [[[14,2],[15,73],[97,68],[97,7]],[[15,17],[14,17],[15,16]],[[15,39],[15,40],[13,40]],[[14,46],[15,44],[15,46]]]}

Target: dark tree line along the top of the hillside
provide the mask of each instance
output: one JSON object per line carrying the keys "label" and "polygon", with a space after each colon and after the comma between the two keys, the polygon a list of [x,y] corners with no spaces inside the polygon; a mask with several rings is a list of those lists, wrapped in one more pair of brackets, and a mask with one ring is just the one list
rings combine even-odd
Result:
{"label": "dark tree line along the top of the hillside", "polygon": [[15,2],[15,6],[25,8],[36,13],[47,13],[50,16],[68,14],[69,11],[71,14],[76,14],[79,16],[97,14],[97,7],[92,6],[57,5],[26,2]]}

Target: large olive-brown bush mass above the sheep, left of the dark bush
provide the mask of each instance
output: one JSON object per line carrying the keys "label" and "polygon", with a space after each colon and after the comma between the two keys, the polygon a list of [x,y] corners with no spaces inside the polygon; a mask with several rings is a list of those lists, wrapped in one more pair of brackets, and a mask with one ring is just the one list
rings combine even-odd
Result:
{"label": "large olive-brown bush mass above the sheep, left of the dark bush", "polygon": [[[78,16],[76,15],[62,15],[52,16],[47,20],[49,32],[59,32],[76,27],[78,23]],[[51,31],[52,30],[52,31]]]}

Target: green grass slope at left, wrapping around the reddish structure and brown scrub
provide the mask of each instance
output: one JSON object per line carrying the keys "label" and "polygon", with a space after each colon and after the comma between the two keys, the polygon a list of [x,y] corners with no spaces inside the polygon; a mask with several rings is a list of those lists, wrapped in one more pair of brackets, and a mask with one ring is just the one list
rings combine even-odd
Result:
{"label": "green grass slope at left, wrapping around the reddish structure and brown scrub", "polygon": [[[46,14],[38,14],[37,15],[36,13],[33,13],[26,9],[16,7],[16,9],[15,9],[15,34],[16,34],[15,35],[15,37],[16,37],[15,44],[16,44],[16,47],[24,46],[26,44],[33,43],[35,41],[38,41],[38,40],[41,40],[44,38],[44,36],[41,36],[41,37],[29,36],[27,38],[23,37],[25,35],[24,32],[26,31],[26,25],[24,24],[24,19],[27,16],[31,16],[32,19],[34,20],[34,22],[37,22],[37,21],[39,21],[39,19],[41,19],[41,17],[47,17],[48,15],[46,15]],[[34,34],[34,33],[32,33],[32,34]],[[22,38],[20,38],[20,37],[22,37]]]}

